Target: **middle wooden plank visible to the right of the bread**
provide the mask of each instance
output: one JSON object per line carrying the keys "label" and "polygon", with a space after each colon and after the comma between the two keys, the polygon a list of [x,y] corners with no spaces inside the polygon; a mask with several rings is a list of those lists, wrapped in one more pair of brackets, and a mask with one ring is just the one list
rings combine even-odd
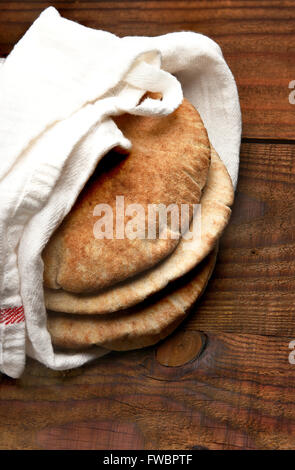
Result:
{"label": "middle wooden plank visible to the right of the bread", "polygon": [[295,338],[294,185],[294,145],[242,145],[233,216],[189,329]]}

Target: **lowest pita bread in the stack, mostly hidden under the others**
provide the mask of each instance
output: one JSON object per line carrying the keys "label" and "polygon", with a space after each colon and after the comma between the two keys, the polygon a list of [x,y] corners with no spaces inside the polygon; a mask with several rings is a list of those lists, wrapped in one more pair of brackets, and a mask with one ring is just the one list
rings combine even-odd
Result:
{"label": "lowest pita bread in the stack, mostly hidden under the others", "polygon": [[126,351],[157,343],[172,333],[203,293],[216,253],[213,250],[186,276],[131,309],[104,316],[49,312],[47,327],[53,345],[70,349],[99,345]]}

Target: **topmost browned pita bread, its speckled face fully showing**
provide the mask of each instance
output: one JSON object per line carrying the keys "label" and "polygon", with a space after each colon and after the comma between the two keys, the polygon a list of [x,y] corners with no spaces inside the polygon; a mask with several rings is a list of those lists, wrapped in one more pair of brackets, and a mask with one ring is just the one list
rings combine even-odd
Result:
{"label": "topmost browned pita bread, its speckled face fully showing", "polygon": [[[125,114],[115,119],[132,142],[128,155],[111,152],[98,164],[72,210],[43,251],[44,284],[52,289],[91,293],[145,271],[166,258],[180,241],[168,224],[167,239],[97,239],[93,229],[97,204],[108,204],[116,217],[116,198],[125,207],[141,204],[147,227],[148,204],[200,201],[210,164],[206,129],[195,108],[184,99],[166,117]],[[125,224],[132,217],[125,218]],[[114,224],[115,225],[115,224]]]}

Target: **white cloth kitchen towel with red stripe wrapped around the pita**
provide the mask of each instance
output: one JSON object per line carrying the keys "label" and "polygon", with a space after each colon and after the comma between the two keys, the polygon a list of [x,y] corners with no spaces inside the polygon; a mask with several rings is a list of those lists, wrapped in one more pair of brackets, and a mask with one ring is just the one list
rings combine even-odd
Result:
{"label": "white cloth kitchen towel with red stripe wrapped around the pita", "polygon": [[[69,369],[105,354],[55,351],[46,328],[42,250],[99,159],[130,143],[110,116],[165,115],[184,95],[237,182],[241,115],[219,46],[192,32],[118,38],[47,8],[0,67],[0,370],[28,354]],[[161,101],[139,101],[146,91]]]}

